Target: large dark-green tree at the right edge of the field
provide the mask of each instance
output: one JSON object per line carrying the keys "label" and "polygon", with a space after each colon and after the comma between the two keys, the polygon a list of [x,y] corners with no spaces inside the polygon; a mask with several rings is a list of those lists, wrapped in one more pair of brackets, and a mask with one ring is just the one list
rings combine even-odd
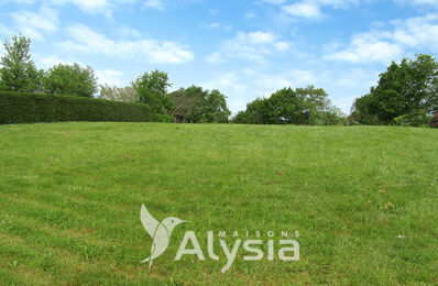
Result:
{"label": "large dark-green tree at the right edge of the field", "polygon": [[352,113],[360,123],[395,123],[438,110],[438,63],[431,55],[393,62],[369,95],[357,99]]}

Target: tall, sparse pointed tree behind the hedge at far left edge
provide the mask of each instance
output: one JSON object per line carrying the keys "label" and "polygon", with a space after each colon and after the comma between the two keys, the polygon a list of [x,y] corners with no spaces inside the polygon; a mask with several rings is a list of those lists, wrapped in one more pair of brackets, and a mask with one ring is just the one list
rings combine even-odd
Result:
{"label": "tall, sparse pointed tree behind the hedge at far left edge", "polygon": [[31,40],[12,36],[12,43],[8,40],[3,43],[6,55],[0,62],[0,88],[20,92],[35,92],[40,89],[42,72],[36,69],[31,59]]}

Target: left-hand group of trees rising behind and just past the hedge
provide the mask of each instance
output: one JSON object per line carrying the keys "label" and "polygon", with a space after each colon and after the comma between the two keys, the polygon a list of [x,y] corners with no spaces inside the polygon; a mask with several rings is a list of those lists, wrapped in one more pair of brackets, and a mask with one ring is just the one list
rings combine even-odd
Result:
{"label": "left-hand group of trees rising behind and just past the hedge", "polygon": [[226,97],[219,90],[193,86],[169,94],[167,73],[157,69],[144,73],[127,87],[99,87],[92,68],[78,64],[58,64],[47,70],[37,70],[31,59],[30,44],[31,41],[22,35],[4,42],[7,53],[0,63],[1,90],[142,102],[150,107],[151,120],[156,122],[225,123],[231,114]]}

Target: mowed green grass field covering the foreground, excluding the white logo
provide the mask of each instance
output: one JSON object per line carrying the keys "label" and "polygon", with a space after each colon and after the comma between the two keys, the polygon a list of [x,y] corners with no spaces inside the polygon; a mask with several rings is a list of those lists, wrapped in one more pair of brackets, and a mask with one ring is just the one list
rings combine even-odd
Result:
{"label": "mowed green grass field covering the foreground, excluding the white logo", "polygon": [[[191,221],[151,270],[140,263],[152,244],[142,204],[158,220]],[[437,218],[438,130],[0,127],[0,284],[432,285]],[[174,262],[188,230],[206,261]],[[298,231],[300,260],[271,262],[263,244],[262,261],[240,249],[222,274],[209,230],[261,231],[264,242],[271,230],[275,241]]]}

